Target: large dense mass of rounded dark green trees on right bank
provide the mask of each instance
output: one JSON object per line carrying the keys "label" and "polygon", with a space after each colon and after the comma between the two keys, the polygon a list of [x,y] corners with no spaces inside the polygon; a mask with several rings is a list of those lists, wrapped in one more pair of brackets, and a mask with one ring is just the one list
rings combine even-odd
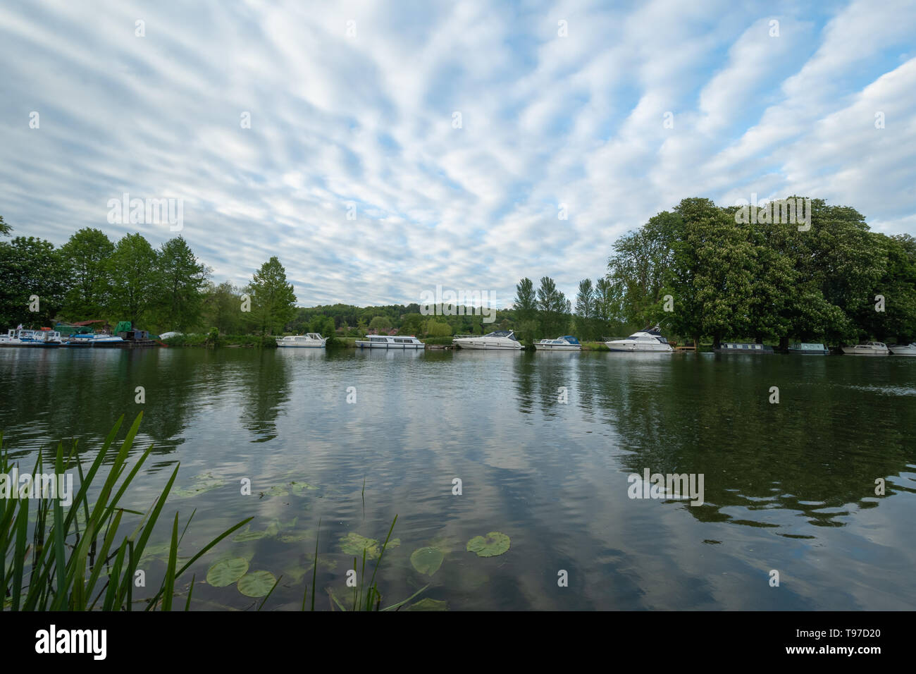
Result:
{"label": "large dense mass of rounded dark green trees on right bank", "polygon": [[[916,336],[911,238],[869,232],[855,209],[821,199],[811,201],[807,231],[765,215],[758,208],[746,218],[737,207],[697,198],[655,215],[616,242],[611,292],[601,280],[595,285],[596,313],[612,325],[660,322],[670,335],[714,343]],[[666,312],[669,294],[674,310]],[[887,300],[884,312],[876,311],[876,295]]]}

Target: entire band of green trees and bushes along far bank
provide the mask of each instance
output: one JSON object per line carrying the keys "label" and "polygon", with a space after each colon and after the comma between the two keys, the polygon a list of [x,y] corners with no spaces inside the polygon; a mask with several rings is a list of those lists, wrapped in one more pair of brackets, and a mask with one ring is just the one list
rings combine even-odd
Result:
{"label": "entire band of green trees and bushes along far bank", "polygon": [[804,227],[771,222],[778,208],[750,208],[748,220],[747,206],[683,199],[618,238],[604,275],[579,282],[572,300],[549,276],[537,285],[523,278],[511,307],[487,323],[479,308],[442,304],[300,307],[277,257],[236,287],[214,282],[181,237],[153,249],[139,233],[113,242],[86,227],[55,248],[3,240],[11,227],[0,217],[0,329],[64,324],[64,333],[70,323],[130,321],[154,335],[180,333],[169,346],[209,348],[271,348],[276,337],[307,332],[330,337],[332,348],[372,334],[442,348],[453,335],[511,329],[527,348],[574,335],[584,350],[604,350],[604,337],[655,324],[701,351],[723,341],[785,350],[796,341],[916,338],[916,238],[872,232],[854,208],[823,199],[810,201]]}

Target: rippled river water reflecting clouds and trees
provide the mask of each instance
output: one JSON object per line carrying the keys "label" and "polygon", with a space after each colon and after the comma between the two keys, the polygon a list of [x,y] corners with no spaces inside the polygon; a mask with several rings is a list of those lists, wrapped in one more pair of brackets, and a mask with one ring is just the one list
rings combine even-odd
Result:
{"label": "rippled river water reflecting clouds and trees", "polygon": [[[224,541],[191,572],[232,554],[283,574],[266,609],[299,606],[319,519],[328,609],[353,566],[341,537],[383,540],[396,514],[383,605],[431,583],[418,599],[450,610],[916,608],[916,359],[6,348],[0,383],[23,468],[61,438],[91,460],[142,409],[134,451],[154,449],[130,503],[147,507],[180,462],[178,488],[208,490],[166,509],[197,510],[188,555],[255,515],[249,532],[267,536]],[[702,473],[703,505],[630,499],[646,469]],[[510,536],[506,554],[465,550],[490,531]],[[409,556],[431,543],[447,554],[430,579]],[[146,565],[158,587],[162,558]],[[200,583],[193,597],[256,603]]]}

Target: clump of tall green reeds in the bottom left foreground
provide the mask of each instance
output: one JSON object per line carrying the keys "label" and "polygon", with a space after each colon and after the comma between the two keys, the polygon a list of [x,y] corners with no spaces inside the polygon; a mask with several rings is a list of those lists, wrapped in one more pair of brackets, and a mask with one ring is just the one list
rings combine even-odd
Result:
{"label": "clump of tall green reeds in the bottom left foreground", "polygon": [[[136,479],[152,451],[152,447],[149,447],[134,466],[127,470],[127,458],[142,418],[142,412],[136,415],[124,442],[115,452],[114,438],[124,422],[124,416],[119,418],[89,470],[85,472],[76,451],[76,442],[66,456],[62,443],[58,444],[54,472],[64,475],[75,469],[80,476],[80,487],[66,509],[60,498],[52,497],[47,492],[37,494],[37,498],[0,498],[0,589],[3,591],[5,610],[132,610],[134,580],[139,561],[180,468],[176,465],[165,488],[146,513],[128,510],[120,505],[127,488]],[[100,470],[106,460],[111,466],[107,475],[102,477]],[[9,475],[13,468],[8,451],[3,447],[3,436],[0,435],[0,474]],[[39,453],[32,475],[41,474],[43,468]],[[95,503],[90,503],[90,489],[93,483],[98,482],[101,482],[101,489]],[[33,503],[35,523],[29,541],[29,510]],[[142,519],[133,532],[121,537],[120,526],[125,513],[141,515]],[[82,514],[82,528],[78,514]],[[156,608],[171,610],[175,584],[181,575],[226,536],[253,519],[249,517],[226,529],[179,569],[178,549],[193,516],[191,513],[179,535],[179,514],[175,514],[166,575],[156,594],[151,599],[142,600],[146,603],[147,611]],[[188,610],[190,606],[191,592],[184,609]]]}

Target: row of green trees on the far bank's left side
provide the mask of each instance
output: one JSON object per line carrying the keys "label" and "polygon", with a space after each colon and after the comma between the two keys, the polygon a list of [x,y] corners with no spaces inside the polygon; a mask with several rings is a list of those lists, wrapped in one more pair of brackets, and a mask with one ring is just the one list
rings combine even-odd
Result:
{"label": "row of green trees on the far bank's left side", "polygon": [[[0,217],[0,236],[10,232]],[[181,237],[158,249],[139,233],[115,242],[91,227],[60,248],[35,237],[0,240],[0,326],[104,320],[153,332],[269,335],[295,315],[296,295],[277,258],[243,288],[211,275]]]}

